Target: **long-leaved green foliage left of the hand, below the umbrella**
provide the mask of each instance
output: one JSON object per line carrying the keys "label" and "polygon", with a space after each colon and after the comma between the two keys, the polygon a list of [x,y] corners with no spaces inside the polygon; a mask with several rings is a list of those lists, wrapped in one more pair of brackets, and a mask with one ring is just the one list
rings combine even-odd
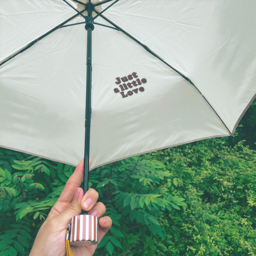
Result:
{"label": "long-leaved green foliage left of the hand, below the umbrella", "polygon": [[[29,255],[37,231],[74,167],[0,149],[0,256]],[[60,189],[61,188],[61,189]]]}

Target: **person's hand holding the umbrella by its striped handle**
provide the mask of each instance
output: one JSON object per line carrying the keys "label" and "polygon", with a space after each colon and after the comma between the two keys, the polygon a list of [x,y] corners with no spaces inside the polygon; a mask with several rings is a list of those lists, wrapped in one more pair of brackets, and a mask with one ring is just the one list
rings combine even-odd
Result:
{"label": "person's hand holding the umbrella by its striped handle", "polygon": [[[103,203],[97,202],[98,193],[92,188],[83,195],[83,189],[79,187],[83,180],[83,160],[79,162],[74,173],[67,181],[57,202],[54,204],[47,219],[40,227],[29,256],[65,256],[65,236],[69,220],[73,216],[80,215],[82,209],[88,214],[100,218],[106,211]],[[97,203],[96,203],[97,202]],[[110,217],[99,219],[98,242],[104,237],[112,226]],[[97,245],[71,246],[75,256],[91,256]]]}

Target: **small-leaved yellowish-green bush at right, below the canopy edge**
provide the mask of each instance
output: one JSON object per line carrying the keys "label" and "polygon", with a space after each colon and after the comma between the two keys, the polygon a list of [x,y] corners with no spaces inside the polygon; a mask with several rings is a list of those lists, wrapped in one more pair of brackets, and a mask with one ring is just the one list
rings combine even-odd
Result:
{"label": "small-leaved yellowish-green bush at right, below the canopy edge", "polygon": [[256,255],[255,151],[214,139],[153,154],[184,180],[188,205],[161,216],[166,236],[151,244],[161,248],[154,255]]}

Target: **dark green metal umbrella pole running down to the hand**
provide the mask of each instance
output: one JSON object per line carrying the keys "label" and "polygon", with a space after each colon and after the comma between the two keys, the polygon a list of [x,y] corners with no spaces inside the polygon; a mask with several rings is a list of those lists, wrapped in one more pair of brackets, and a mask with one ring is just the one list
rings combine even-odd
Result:
{"label": "dark green metal umbrella pole running down to the hand", "polygon": [[[88,16],[85,19],[87,30],[87,61],[86,61],[86,103],[85,103],[85,144],[84,144],[84,167],[83,167],[83,192],[88,190],[89,180],[89,155],[90,155],[90,118],[91,118],[91,77],[92,77],[92,31],[94,30],[94,20],[92,8],[89,1]],[[83,214],[87,212],[83,211]]]}

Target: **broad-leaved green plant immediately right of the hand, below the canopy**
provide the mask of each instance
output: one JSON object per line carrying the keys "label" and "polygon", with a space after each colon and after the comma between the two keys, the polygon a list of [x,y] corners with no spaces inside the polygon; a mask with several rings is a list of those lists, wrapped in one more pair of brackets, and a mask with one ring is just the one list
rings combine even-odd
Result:
{"label": "broad-leaved green plant immediately right of the hand, below the canopy", "polygon": [[[140,156],[99,167],[90,172],[90,180],[104,198],[113,226],[98,246],[96,255],[119,255],[143,251],[145,235],[164,237],[159,217],[173,209],[186,209],[177,195],[171,174],[162,162]],[[176,183],[174,181],[174,183]],[[106,245],[102,249],[102,246]],[[128,255],[128,254],[127,254]]]}

